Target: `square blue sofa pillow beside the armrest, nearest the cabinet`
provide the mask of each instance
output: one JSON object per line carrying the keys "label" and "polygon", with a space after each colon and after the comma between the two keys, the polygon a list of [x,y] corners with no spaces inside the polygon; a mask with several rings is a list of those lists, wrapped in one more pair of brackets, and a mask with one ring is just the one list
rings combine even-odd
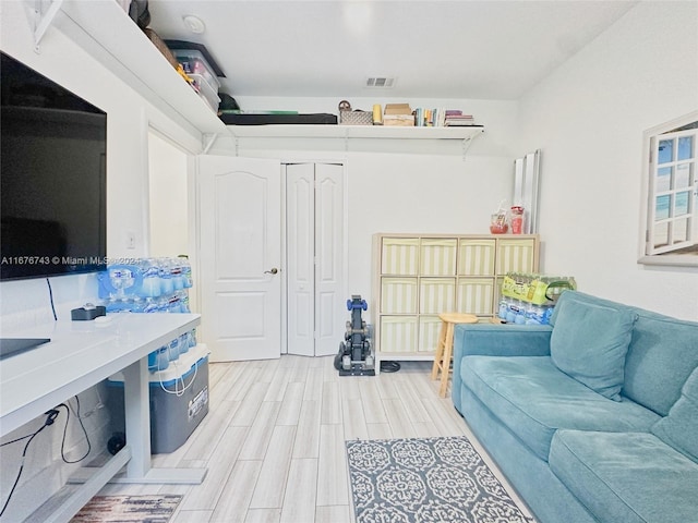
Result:
{"label": "square blue sofa pillow beside the armrest, nearest the cabinet", "polygon": [[555,306],[550,340],[553,363],[592,390],[619,401],[636,317],[626,307],[610,307],[578,299],[574,292],[563,293]]}

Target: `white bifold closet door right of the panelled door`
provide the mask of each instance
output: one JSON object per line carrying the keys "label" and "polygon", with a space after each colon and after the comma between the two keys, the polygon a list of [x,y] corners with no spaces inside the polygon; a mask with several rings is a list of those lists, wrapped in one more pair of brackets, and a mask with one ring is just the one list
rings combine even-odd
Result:
{"label": "white bifold closet door right of the panelled door", "polygon": [[286,166],[289,354],[336,354],[346,331],[344,167]]}

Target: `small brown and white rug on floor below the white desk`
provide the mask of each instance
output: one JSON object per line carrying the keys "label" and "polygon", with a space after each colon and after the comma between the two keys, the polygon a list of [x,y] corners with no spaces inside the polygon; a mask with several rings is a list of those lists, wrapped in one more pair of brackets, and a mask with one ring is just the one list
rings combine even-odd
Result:
{"label": "small brown and white rug on floor below the white desk", "polygon": [[71,523],[168,523],[181,496],[95,496]]}

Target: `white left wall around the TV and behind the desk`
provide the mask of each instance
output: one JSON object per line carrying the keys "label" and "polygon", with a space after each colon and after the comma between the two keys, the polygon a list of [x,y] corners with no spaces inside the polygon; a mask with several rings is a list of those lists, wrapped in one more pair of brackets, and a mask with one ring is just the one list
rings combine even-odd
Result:
{"label": "white left wall around the TV and behind the desk", "polygon": [[[34,7],[33,0],[0,1],[0,48],[108,113],[107,256],[118,258],[146,255],[148,125],[171,135],[190,150],[201,149],[201,136],[192,135],[174,125],[167,115],[144,101],[118,76],[107,71],[62,34],[57,26],[49,27],[36,51],[33,34]],[[125,248],[127,232],[135,235],[134,250]],[[71,308],[87,301],[96,301],[97,283],[94,275],[61,276],[51,278],[50,283],[59,319],[69,318]],[[0,283],[0,333],[7,336],[17,329],[52,320],[46,280]],[[93,454],[105,450],[109,436],[109,417],[107,410],[101,409],[103,392],[101,387],[95,387],[80,394],[83,415],[87,412],[95,414],[85,419]],[[74,400],[72,404],[75,405]],[[32,434],[44,423],[45,417],[40,416],[7,435],[2,441]],[[59,419],[32,443],[22,479],[8,506],[3,521],[24,520],[63,486],[74,467],[80,466],[67,465],[60,457],[64,419],[65,413],[62,411]],[[81,429],[73,425],[74,423],[74,417],[71,417],[65,449],[71,459],[80,457],[85,448]],[[0,450],[2,503],[7,500],[19,471],[24,443],[25,441],[13,443]]]}

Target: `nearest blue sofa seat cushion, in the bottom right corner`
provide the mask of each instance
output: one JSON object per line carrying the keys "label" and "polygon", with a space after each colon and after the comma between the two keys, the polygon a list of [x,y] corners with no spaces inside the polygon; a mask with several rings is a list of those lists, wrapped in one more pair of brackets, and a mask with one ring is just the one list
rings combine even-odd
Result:
{"label": "nearest blue sofa seat cushion, in the bottom right corner", "polygon": [[599,521],[696,521],[698,464],[651,434],[559,430],[550,467]]}

